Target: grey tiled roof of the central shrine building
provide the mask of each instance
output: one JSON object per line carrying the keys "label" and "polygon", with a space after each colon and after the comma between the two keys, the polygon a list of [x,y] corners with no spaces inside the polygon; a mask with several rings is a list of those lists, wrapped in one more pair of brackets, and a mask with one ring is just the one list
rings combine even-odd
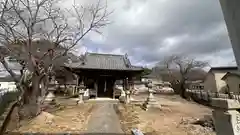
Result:
{"label": "grey tiled roof of the central shrine building", "polygon": [[126,55],[86,53],[79,62],[65,64],[69,68],[105,69],[105,70],[143,70],[133,66]]}

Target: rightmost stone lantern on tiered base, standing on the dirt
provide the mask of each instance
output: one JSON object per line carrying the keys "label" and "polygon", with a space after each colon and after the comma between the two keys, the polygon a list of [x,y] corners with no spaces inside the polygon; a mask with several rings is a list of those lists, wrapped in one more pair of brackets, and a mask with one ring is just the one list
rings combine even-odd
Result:
{"label": "rightmost stone lantern on tiered base, standing on the dirt", "polygon": [[161,105],[158,104],[158,102],[155,100],[153,96],[154,90],[149,89],[149,94],[146,99],[146,101],[143,103],[143,109],[148,110],[149,108],[160,108]]}

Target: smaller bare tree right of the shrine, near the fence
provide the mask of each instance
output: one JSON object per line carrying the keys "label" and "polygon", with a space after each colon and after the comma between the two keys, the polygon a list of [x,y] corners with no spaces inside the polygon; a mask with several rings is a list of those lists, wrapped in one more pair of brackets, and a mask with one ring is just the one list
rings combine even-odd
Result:
{"label": "smaller bare tree right of the shrine, near the fence", "polygon": [[199,61],[194,58],[172,55],[162,62],[168,72],[170,82],[176,93],[186,98],[186,81],[189,80],[189,73],[195,69],[202,69],[208,66],[207,62]]}

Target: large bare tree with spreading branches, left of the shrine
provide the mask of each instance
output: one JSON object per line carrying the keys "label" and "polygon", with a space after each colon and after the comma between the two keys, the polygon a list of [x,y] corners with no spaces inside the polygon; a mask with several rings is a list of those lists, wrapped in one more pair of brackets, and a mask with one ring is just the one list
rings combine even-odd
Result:
{"label": "large bare tree with spreading branches, left of the shrine", "polygon": [[[31,115],[41,112],[40,104],[58,60],[74,49],[88,33],[100,33],[100,28],[109,23],[107,6],[102,6],[100,0],[88,7],[74,3],[68,10],[61,9],[58,2],[2,0],[0,5],[0,41],[4,52],[0,54],[0,62],[21,91],[16,103],[20,105],[23,99],[28,99],[24,104],[29,105]],[[45,47],[41,50],[36,44]],[[7,56],[14,57],[21,64],[20,79],[9,68]],[[27,79],[30,83],[23,83],[24,78],[30,78]],[[40,88],[41,84],[46,87]]]}

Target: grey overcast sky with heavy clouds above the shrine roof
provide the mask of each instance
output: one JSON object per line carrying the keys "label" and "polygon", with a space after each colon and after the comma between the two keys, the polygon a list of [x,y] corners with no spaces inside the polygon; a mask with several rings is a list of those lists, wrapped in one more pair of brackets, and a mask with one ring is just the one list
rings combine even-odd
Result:
{"label": "grey overcast sky with heavy clouds above the shrine roof", "polygon": [[143,66],[175,53],[235,65],[218,0],[108,0],[108,8],[112,24],[89,34],[81,51],[127,53]]}

